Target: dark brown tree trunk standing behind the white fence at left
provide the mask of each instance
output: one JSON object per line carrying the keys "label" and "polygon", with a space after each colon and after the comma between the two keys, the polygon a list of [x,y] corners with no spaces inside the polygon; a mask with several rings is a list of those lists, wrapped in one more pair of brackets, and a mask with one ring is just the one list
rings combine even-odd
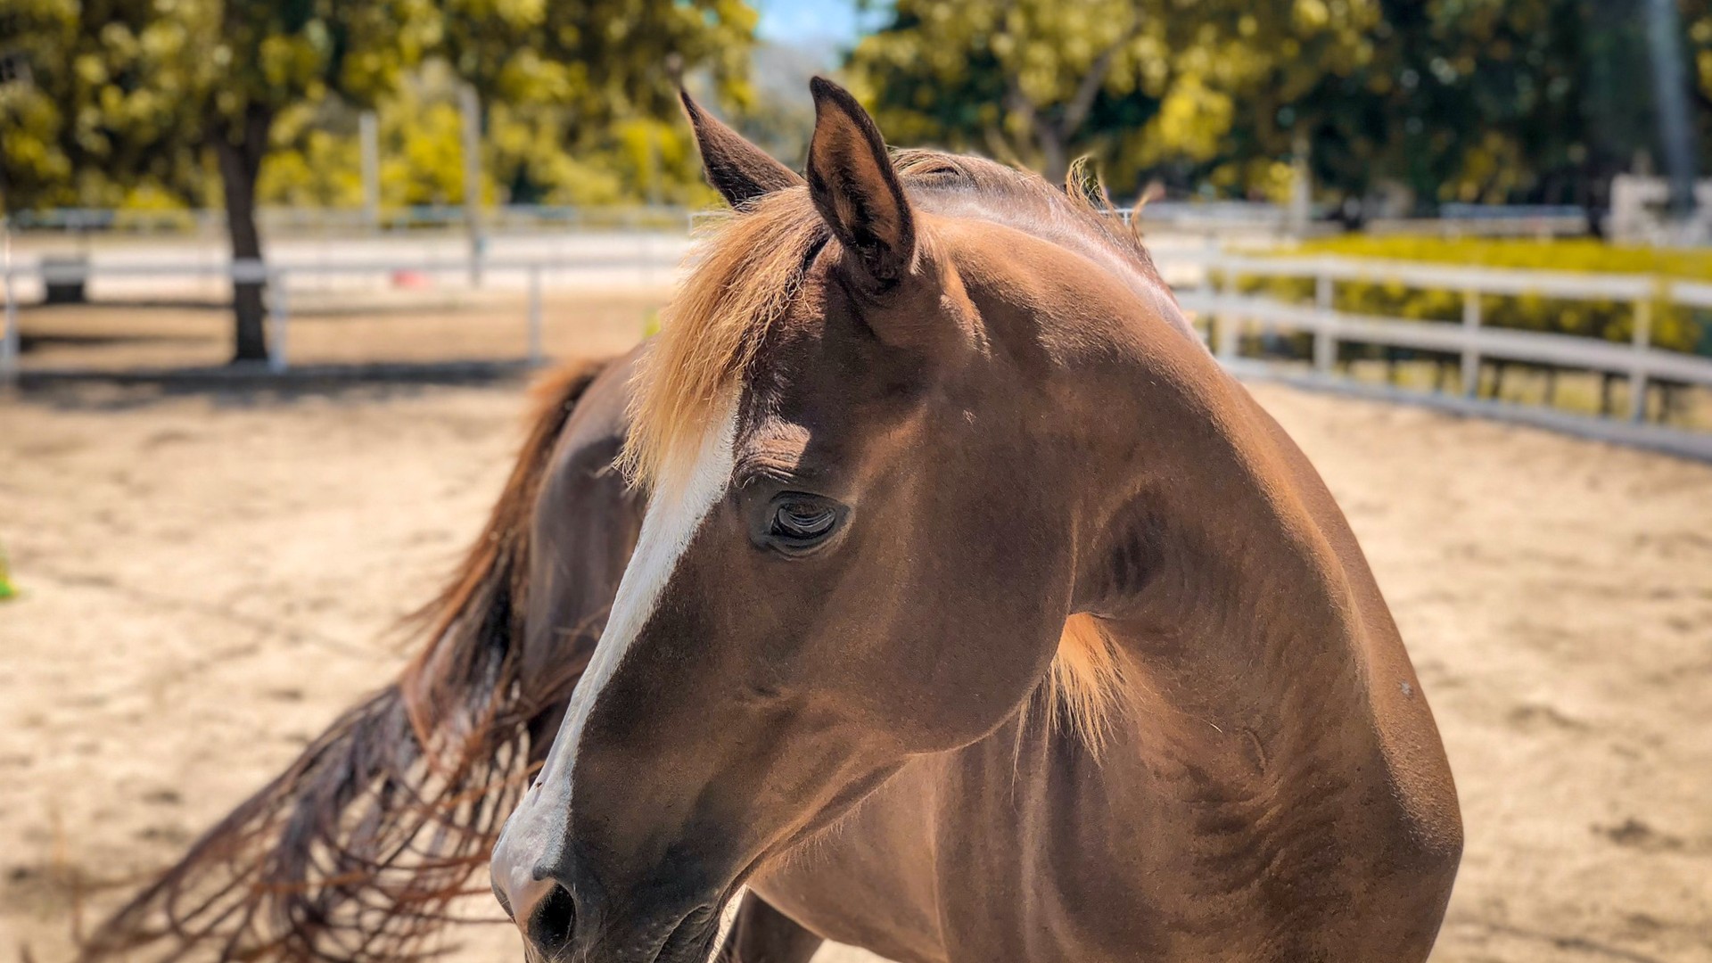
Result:
{"label": "dark brown tree trunk standing behind the white fence at left", "polygon": [[[214,154],[219,158],[221,185],[226,194],[226,231],[231,235],[231,259],[262,260],[262,233],[255,226],[255,178],[267,156],[267,135],[274,115],[267,108],[248,106],[241,118],[214,125]],[[236,338],[231,360],[267,360],[267,310],[262,281],[233,281],[231,310]]]}

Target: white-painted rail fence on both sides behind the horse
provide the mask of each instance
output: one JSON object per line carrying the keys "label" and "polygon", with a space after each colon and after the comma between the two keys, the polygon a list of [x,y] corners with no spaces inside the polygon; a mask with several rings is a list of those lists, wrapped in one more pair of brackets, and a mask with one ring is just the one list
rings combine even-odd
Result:
{"label": "white-painted rail fence on both sides behind the horse", "polygon": [[[640,252],[640,254],[639,254]],[[140,262],[103,264],[99,259],[86,264],[19,262],[5,271],[5,338],[0,339],[0,382],[19,374],[19,329],[15,281],[79,283],[96,278],[231,278],[257,281],[269,286],[269,341],[270,368],[284,372],[291,365],[291,279],[337,276],[389,276],[464,274],[483,278],[520,278],[526,284],[524,326],[527,331],[529,360],[543,356],[543,288],[558,283],[565,272],[587,271],[603,266],[642,266],[652,278],[676,262],[678,247],[644,247],[639,250],[577,252],[572,257],[512,255],[469,259],[385,259],[344,257],[317,262],[257,260],[238,262]],[[647,264],[642,264],[647,260]],[[1251,362],[1238,356],[1245,326],[1299,331],[1313,336],[1313,379],[1323,387],[1347,382],[1335,375],[1339,343],[1364,343],[1419,351],[1438,351],[1460,356],[1462,396],[1435,396],[1443,408],[1484,413],[1501,418],[1546,423],[1560,430],[1584,427],[1582,434],[1666,447],[1681,454],[1712,458],[1712,434],[1685,432],[1659,425],[1640,425],[1645,416],[1647,386],[1652,380],[1712,387],[1712,358],[1659,350],[1652,344],[1652,312],[1656,305],[1686,305],[1712,308],[1712,281],[1693,283],[1640,274],[1570,274],[1551,271],[1503,271],[1419,262],[1388,262],[1339,257],[1253,257],[1217,250],[1168,250],[1159,257],[1161,269],[1186,279],[1178,298],[1186,310],[1205,315],[1210,324],[1214,353],[1229,367],[1258,372]],[[1190,269],[1190,271],[1185,271]],[[1197,271],[1198,269],[1198,271]],[[1216,284],[1214,279],[1219,279]],[[1291,303],[1275,298],[1241,295],[1234,290],[1236,278],[1311,278],[1313,303]],[[1198,279],[1198,283],[1197,283]],[[1457,322],[1428,322],[1414,319],[1375,317],[1340,312],[1334,307],[1337,283],[1371,281],[1394,283],[1419,290],[1448,290],[1462,296],[1462,319]],[[1483,324],[1483,295],[1537,295],[1560,300],[1626,302],[1633,312],[1633,338],[1628,344],[1596,338],[1546,334],[1534,331],[1493,329]],[[1536,363],[1561,368],[1585,368],[1620,374],[1628,380],[1628,425],[1614,418],[1594,418],[1565,411],[1536,411],[1519,416],[1515,404],[1489,403],[1477,398],[1483,358]],[[1346,387],[1356,389],[1352,384]],[[1371,386],[1361,389],[1371,392]],[[1421,392],[1390,392],[1421,394]],[[1402,399],[1402,398],[1399,398]],[[1419,401],[1419,398],[1409,398]],[[1566,425],[1570,428],[1566,428]],[[1666,442],[1659,442],[1666,439]],[[1681,444],[1674,444],[1679,440]]]}

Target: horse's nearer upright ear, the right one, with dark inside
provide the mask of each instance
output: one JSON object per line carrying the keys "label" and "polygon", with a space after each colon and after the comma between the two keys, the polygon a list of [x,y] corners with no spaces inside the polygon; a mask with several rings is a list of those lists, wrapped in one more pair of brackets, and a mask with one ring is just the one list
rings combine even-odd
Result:
{"label": "horse's nearer upright ear, the right one, with dark inside", "polygon": [[916,221],[885,141],[849,91],[815,77],[815,137],[808,144],[808,194],[832,235],[878,284],[909,271]]}

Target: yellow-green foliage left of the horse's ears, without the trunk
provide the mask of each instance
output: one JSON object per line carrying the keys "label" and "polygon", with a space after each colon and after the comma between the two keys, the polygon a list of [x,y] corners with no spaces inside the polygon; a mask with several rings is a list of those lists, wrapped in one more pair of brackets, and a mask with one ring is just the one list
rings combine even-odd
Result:
{"label": "yellow-green foliage left of the horse's ears, without the trunk", "polygon": [[382,204],[455,204],[462,79],[483,99],[490,202],[698,204],[676,84],[692,70],[746,103],[755,14],[740,0],[3,0],[0,24],[34,77],[0,93],[7,209],[219,206],[205,146],[257,130],[262,202],[356,207],[368,106]]}

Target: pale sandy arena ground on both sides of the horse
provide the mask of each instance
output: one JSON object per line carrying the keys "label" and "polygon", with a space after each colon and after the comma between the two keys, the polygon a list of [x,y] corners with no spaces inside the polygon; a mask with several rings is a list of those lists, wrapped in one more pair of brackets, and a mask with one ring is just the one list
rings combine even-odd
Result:
{"label": "pale sandy arena ground on both sides of the horse", "polygon": [[[550,346],[620,350],[652,303],[556,303]],[[339,356],[353,331],[306,319],[294,346]],[[476,533],[520,391],[0,401],[22,589],[0,603],[0,963],[67,960],[115,881],[394,672],[389,625]],[[1253,391],[1349,512],[1450,749],[1467,853],[1435,960],[1712,961],[1712,466]],[[519,958],[500,927],[459,936],[457,963]]]}

